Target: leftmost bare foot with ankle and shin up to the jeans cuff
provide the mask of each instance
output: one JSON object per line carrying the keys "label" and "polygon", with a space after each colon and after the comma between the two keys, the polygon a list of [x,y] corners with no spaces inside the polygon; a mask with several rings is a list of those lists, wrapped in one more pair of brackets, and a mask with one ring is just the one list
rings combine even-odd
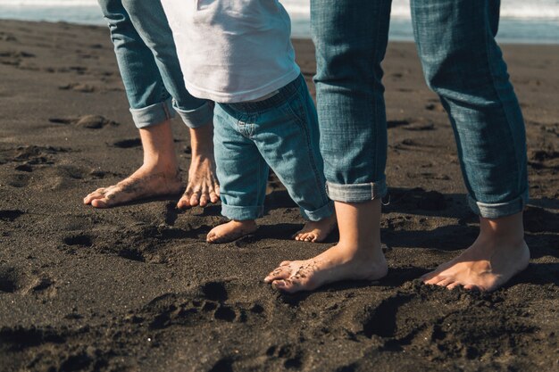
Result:
{"label": "leftmost bare foot with ankle and shin up to the jeans cuff", "polygon": [[139,134],[144,148],[144,164],[118,184],[88,194],[83,203],[109,208],[150,196],[180,192],[170,121],[141,128]]}

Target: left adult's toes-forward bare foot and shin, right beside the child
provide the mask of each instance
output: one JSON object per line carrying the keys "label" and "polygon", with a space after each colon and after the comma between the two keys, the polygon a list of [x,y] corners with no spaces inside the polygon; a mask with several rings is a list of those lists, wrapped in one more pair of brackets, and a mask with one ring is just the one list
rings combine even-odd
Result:
{"label": "left adult's toes-forward bare foot and shin, right beside the child", "polygon": [[192,160],[188,169],[187,189],[177,203],[177,208],[186,209],[220,200],[220,186],[215,176],[213,160],[213,124],[190,129]]}

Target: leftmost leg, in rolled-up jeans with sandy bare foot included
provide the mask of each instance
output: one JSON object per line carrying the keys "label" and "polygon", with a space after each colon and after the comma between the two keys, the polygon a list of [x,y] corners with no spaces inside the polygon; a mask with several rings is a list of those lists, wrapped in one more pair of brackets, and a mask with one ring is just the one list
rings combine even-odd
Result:
{"label": "leftmost leg, in rolled-up jeans with sandy bare foot included", "polygon": [[144,164],[117,185],[88,194],[84,203],[106,208],[158,194],[177,194],[181,181],[169,121],[169,95],[153,55],[120,0],[102,0],[99,4],[110,25],[130,111],[144,147]]}

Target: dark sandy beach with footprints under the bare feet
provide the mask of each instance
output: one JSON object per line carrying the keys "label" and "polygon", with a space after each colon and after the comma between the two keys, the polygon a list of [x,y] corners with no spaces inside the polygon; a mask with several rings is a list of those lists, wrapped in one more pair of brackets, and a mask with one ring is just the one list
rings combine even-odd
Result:
{"label": "dark sandy beach with footprints under the bare feet", "polygon": [[[310,81],[313,45],[295,45]],[[337,236],[291,241],[303,219],[274,179],[260,229],[232,244],[204,243],[219,205],[84,206],[142,161],[108,29],[0,21],[0,371],[559,370],[559,45],[503,49],[528,135],[529,268],[495,293],[416,279],[478,224],[414,45],[392,43],[388,277],[283,295],[263,277]]]}

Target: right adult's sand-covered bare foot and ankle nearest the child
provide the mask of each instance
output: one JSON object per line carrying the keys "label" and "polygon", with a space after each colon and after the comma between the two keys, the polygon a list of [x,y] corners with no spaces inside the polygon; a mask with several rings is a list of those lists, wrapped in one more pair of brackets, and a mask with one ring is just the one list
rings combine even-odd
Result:
{"label": "right adult's sand-covered bare foot and ankle nearest the child", "polygon": [[341,280],[376,280],[387,275],[380,245],[380,200],[334,204],[339,243],[310,260],[281,262],[264,282],[294,293]]}

